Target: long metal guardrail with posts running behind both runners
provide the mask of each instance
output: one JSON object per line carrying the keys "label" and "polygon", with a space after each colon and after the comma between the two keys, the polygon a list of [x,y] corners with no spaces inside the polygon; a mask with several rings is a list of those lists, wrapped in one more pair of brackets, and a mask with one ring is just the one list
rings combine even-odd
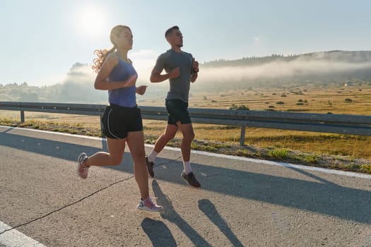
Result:
{"label": "long metal guardrail with posts running behind both runners", "polygon": [[[0,102],[0,110],[20,111],[22,122],[25,121],[24,112],[101,116],[105,107],[105,104]],[[165,107],[140,108],[143,119],[167,120]],[[371,116],[201,108],[189,108],[189,114],[193,123],[240,126],[240,145],[245,145],[246,127],[371,135]]]}

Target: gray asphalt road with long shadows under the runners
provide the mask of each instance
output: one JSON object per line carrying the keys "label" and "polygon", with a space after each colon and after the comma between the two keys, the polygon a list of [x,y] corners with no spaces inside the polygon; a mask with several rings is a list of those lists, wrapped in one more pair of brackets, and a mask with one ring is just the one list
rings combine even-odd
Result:
{"label": "gray asphalt road with long shadows under the runners", "polygon": [[129,152],[76,176],[78,154],[100,150],[99,138],[0,126],[0,246],[371,246],[371,176],[194,152],[197,189],[168,148],[149,179],[165,209],[139,212]]}

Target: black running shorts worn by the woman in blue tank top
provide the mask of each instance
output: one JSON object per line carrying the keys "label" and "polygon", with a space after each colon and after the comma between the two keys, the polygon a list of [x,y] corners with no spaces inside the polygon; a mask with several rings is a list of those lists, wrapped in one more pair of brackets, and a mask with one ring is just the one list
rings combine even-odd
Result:
{"label": "black running shorts worn by the woman in blue tank top", "polygon": [[141,109],[111,104],[102,116],[102,132],[107,138],[124,139],[127,133],[143,131]]}

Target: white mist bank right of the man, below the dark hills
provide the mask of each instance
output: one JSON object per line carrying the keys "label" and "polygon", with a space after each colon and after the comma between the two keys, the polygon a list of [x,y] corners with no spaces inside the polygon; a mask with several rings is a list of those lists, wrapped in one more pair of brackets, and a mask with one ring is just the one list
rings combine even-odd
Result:
{"label": "white mist bank right of the man, below the dark hills", "polygon": [[[229,65],[228,65],[229,64]],[[246,82],[254,80],[367,80],[371,76],[371,52],[319,52],[301,56],[271,56],[205,64],[204,82]]]}

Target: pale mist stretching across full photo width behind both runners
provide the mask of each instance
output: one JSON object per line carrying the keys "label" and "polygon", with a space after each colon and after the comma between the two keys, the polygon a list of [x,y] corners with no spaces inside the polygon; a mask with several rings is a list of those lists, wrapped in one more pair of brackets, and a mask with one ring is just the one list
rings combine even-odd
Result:
{"label": "pale mist stretching across full photo width behind both runners", "polygon": [[[135,65],[135,61],[134,61]],[[139,68],[137,85],[148,85],[146,96],[163,98],[168,82],[150,83],[151,67]],[[93,87],[91,64],[73,64],[60,83],[48,87],[0,87],[0,101],[106,102],[107,92]],[[265,56],[210,61],[200,65],[191,91],[234,90],[283,85],[307,85],[348,81],[371,83],[371,51],[320,52],[293,56]]]}

